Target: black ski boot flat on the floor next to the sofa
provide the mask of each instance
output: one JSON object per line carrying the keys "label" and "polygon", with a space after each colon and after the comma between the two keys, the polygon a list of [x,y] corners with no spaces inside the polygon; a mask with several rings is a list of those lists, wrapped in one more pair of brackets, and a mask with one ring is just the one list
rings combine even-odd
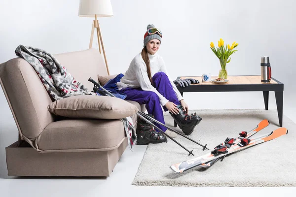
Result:
{"label": "black ski boot flat on the floor next to the sofa", "polygon": [[[148,114],[152,117],[151,114]],[[161,142],[167,142],[166,136],[162,132],[157,132],[153,129],[152,125],[148,124],[145,120],[138,117],[137,124],[137,144],[146,145],[149,143],[157,144]]]}

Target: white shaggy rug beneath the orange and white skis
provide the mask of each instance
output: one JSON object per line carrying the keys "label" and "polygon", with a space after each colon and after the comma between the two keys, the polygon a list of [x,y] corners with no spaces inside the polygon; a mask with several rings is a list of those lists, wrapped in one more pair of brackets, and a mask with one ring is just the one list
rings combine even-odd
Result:
{"label": "white shaggy rug beneath the orange and white skis", "polygon": [[[240,131],[251,131],[258,123],[269,120],[265,129],[253,135],[261,136],[279,128],[277,110],[192,110],[203,119],[190,138],[214,149],[226,137],[238,137]],[[166,113],[165,121],[173,128],[173,118]],[[202,147],[178,135],[175,139],[195,156],[188,156],[179,145],[149,144],[133,185],[138,186],[202,186],[202,187],[295,187],[296,186],[296,124],[286,116],[283,127],[288,134],[246,150],[228,155],[223,162],[210,168],[194,167],[175,174],[169,166],[207,153]],[[175,128],[181,131],[179,127]],[[252,137],[251,137],[252,138]]]}

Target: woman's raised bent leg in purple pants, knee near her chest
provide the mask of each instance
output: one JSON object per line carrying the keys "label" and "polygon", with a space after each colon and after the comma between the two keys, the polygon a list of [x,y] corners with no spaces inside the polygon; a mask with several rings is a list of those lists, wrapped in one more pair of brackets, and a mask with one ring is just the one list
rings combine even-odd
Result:
{"label": "woman's raised bent leg in purple pants, knee near her chest", "polygon": [[[173,89],[173,86],[169,80],[169,77],[164,72],[157,72],[152,77],[153,86],[156,90],[164,96],[164,98],[175,103],[176,105],[181,105],[178,97]],[[167,108],[163,107],[164,111],[167,111]]]}

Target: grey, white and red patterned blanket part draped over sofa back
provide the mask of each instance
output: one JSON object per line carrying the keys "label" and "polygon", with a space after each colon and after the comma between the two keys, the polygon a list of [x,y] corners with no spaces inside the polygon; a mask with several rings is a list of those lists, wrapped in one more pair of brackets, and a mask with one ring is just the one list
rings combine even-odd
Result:
{"label": "grey, white and red patterned blanket part draped over sofa back", "polygon": [[15,54],[34,67],[53,99],[58,100],[74,95],[96,95],[77,81],[50,53],[31,46],[19,45],[15,49]]}

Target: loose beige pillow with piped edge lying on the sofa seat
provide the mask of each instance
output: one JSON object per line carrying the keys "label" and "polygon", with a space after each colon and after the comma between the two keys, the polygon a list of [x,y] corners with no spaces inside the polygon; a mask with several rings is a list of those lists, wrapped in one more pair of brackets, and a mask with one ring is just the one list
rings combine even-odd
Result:
{"label": "loose beige pillow with piped edge lying on the sofa seat", "polygon": [[48,105],[48,110],[58,116],[80,119],[120,119],[139,111],[135,105],[123,99],[90,95],[56,100]]}

